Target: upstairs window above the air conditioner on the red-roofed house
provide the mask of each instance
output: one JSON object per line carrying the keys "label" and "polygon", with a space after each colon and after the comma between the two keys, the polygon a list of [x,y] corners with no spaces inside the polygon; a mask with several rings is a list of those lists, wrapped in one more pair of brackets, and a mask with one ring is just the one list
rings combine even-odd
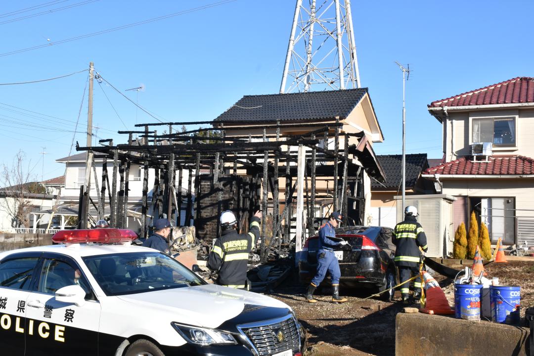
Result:
{"label": "upstairs window above the air conditioner on the red-roofed house", "polygon": [[515,117],[473,119],[472,142],[491,142],[496,147],[515,146]]}

